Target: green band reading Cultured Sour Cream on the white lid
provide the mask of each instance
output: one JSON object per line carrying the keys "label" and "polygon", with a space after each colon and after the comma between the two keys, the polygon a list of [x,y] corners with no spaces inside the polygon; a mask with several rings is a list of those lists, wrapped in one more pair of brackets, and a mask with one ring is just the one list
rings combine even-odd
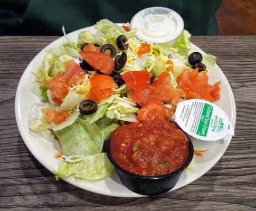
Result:
{"label": "green band reading Cultured Sour Cream on the white lid", "polygon": [[212,117],[212,110],[213,110],[212,105],[209,105],[207,103],[204,104],[203,112],[200,118],[200,123],[196,131],[196,134],[198,136],[206,137],[207,131],[210,125],[210,120]]}

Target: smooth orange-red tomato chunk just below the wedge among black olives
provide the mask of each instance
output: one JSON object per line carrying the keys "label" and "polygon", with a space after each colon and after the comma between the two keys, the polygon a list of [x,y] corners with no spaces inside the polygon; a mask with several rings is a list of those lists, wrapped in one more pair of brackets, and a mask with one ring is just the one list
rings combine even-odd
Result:
{"label": "smooth orange-red tomato chunk just below the wedge among black olives", "polygon": [[93,75],[89,80],[93,88],[115,89],[117,87],[116,82],[109,75],[97,74],[97,75]]}

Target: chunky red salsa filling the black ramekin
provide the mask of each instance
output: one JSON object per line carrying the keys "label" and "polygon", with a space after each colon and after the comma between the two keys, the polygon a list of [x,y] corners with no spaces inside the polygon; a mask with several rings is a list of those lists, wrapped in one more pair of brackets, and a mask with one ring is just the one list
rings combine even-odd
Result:
{"label": "chunky red salsa filling the black ramekin", "polygon": [[181,168],[189,152],[188,139],[157,112],[145,121],[123,124],[113,131],[110,152],[117,164],[137,175],[160,176]]}

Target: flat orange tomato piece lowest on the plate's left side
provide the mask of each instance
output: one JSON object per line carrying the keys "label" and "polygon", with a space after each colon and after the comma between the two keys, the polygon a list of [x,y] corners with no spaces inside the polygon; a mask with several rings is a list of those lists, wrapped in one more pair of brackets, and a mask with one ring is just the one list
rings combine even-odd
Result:
{"label": "flat orange tomato piece lowest on the plate's left side", "polygon": [[41,111],[45,114],[48,121],[53,122],[55,124],[64,122],[69,116],[69,112],[58,112],[50,108],[41,109]]}

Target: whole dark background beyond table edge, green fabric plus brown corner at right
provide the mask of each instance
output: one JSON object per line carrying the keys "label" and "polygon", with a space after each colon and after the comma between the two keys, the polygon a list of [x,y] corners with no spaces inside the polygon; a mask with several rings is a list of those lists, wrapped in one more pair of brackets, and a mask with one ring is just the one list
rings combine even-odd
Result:
{"label": "whole dark background beyond table edge, green fabric plus brown corner at right", "polygon": [[0,35],[62,35],[151,6],[174,9],[192,35],[256,35],[255,0],[0,0]]}

